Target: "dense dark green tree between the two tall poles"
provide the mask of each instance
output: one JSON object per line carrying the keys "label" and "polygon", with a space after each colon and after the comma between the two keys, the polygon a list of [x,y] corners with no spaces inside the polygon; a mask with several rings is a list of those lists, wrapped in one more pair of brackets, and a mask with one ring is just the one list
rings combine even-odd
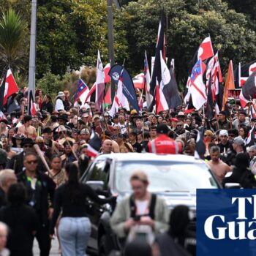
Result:
{"label": "dense dark green tree between the two tall poles", "polygon": [[[118,15],[114,12],[115,26]],[[37,78],[45,72],[64,75],[68,67],[95,66],[98,49],[108,62],[107,1],[41,0],[37,21]],[[117,60],[124,59],[125,31],[118,29],[115,36]]]}

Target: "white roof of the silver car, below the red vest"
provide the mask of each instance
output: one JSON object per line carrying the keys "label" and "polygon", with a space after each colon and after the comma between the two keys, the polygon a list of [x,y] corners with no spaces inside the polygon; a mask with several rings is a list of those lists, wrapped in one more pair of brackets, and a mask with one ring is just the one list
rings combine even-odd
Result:
{"label": "white roof of the silver car, below the red vest", "polygon": [[97,159],[113,159],[118,161],[129,160],[153,160],[153,161],[173,161],[173,162],[186,162],[186,163],[203,163],[201,159],[195,159],[184,154],[154,154],[154,153],[113,153],[113,154],[101,154]]}

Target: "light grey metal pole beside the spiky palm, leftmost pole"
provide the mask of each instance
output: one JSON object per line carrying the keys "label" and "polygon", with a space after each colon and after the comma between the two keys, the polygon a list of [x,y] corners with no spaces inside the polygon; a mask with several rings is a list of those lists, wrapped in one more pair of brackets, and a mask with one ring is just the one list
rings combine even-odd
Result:
{"label": "light grey metal pole beside the spiky palm, leftmost pole", "polygon": [[29,91],[34,97],[36,71],[37,0],[31,1],[31,30],[29,52]]}

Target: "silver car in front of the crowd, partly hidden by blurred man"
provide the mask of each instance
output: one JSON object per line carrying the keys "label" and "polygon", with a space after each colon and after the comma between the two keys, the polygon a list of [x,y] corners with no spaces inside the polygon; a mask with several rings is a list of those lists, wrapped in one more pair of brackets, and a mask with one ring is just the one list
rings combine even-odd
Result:
{"label": "silver car in front of the crowd, partly hidden by blurred man", "polygon": [[[129,176],[135,170],[143,170],[149,178],[148,190],[165,198],[167,206],[174,208],[184,204],[192,214],[196,208],[196,189],[220,188],[217,178],[206,162],[185,155],[163,154],[102,154],[84,173],[81,181],[108,195],[118,195],[117,203],[132,193]],[[90,249],[99,255],[108,255],[118,249],[118,243],[110,230],[109,219],[113,209],[91,203],[89,214],[92,224]]]}

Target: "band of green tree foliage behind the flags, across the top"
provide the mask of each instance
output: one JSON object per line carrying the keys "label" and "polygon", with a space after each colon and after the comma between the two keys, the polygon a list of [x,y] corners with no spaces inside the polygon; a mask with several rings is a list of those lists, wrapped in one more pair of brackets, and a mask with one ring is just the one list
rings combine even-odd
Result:
{"label": "band of green tree foliage behind the flags, across the top", "polygon": [[[255,0],[119,1],[122,10],[113,8],[115,61],[122,64],[126,59],[125,66],[132,75],[142,71],[145,50],[151,64],[162,9],[166,13],[168,64],[175,59],[180,85],[186,83],[195,51],[208,34],[214,52],[219,50],[223,73],[230,59],[236,65],[256,58]],[[0,6],[5,15],[10,8],[19,12],[19,24],[30,24],[31,0],[0,0]],[[81,76],[91,86],[96,77],[91,67],[96,66],[97,50],[104,64],[109,61],[107,0],[38,0],[37,9],[37,86],[53,96],[60,89],[68,89],[72,94],[78,75],[70,75],[67,70],[79,70],[82,66],[86,69]],[[22,84],[26,84],[29,67],[26,26],[19,36],[12,34],[15,38],[9,42],[0,31],[0,44],[5,40],[8,48],[13,49],[12,56],[16,56],[10,64],[12,69],[23,69],[19,74]],[[1,48],[0,55],[4,54],[7,56]],[[0,56],[1,70],[10,62],[3,60]]]}

